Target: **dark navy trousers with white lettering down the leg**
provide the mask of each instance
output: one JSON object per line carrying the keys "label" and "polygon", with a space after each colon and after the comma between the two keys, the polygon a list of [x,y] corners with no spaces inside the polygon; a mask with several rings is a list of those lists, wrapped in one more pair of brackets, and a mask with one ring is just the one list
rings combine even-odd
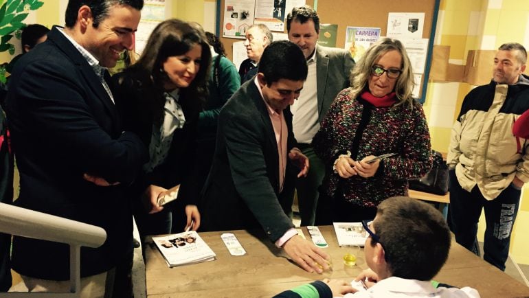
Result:
{"label": "dark navy trousers with white lettering down the leg", "polygon": [[505,271],[509,253],[510,234],[513,231],[521,191],[509,185],[494,200],[486,200],[477,185],[471,192],[461,188],[455,170],[450,171],[449,224],[455,241],[480,255],[477,246],[477,222],[482,209],[485,210],[485,239],[483,258]]}

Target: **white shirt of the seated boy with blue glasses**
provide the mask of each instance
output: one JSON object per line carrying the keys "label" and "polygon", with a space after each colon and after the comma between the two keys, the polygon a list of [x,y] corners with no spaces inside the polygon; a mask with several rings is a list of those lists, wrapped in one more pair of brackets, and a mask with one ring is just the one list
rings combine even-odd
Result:
{"label": "white shirt of the seated boy with blue glasses", "polygon": [[368,290],[350,293],[345,298],[363,297],[428,297],[428,298],[480,298],[477,290],[469,287],[464,288],[434,288],[431,282],[416,279],[403,279],[401,277],[388,277],[377,282]]}

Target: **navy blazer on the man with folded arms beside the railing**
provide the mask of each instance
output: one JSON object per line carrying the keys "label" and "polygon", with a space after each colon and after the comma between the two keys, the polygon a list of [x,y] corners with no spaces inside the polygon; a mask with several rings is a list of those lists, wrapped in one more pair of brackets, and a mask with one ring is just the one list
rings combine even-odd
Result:
{"label": "navy blazer on the man with folded arms beside the railing", "polygon": [[[20,172],[15,204],[105,229],[102,247],[81,249],[81,275],[109,270],[132,249],[124,189],[147,159],[142,141],[122,132],[99,77],[57,27],[16,63],[6,104]],[[83,173],[121,184],[96,186]],[[69,247],[15,237],[12,266],[22,275],[69,279]]]}

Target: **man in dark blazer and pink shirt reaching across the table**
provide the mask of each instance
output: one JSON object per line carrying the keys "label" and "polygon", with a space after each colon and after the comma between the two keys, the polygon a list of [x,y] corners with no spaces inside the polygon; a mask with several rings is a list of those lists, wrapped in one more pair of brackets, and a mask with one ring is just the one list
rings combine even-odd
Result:
{"label": "man in dark blazer and pink shirt reaching across the table", "polygon": [[297,235],[286,215],[291,200],[284,197],[296,172],[303,176],[308,170],[308,160],[295,148],[287,108],[300,94],[306,73],[299,47],[289,41],[271,43],[264,49],[256,78],[243,84],[223,107],[204,188],[201,227],[262,227],[294,262],[322,273],[328,268],[328,255]]}

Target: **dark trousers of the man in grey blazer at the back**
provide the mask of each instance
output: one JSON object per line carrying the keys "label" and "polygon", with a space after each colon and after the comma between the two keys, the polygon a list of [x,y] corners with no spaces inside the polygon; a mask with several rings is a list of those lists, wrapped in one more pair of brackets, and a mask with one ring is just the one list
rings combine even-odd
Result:
{"label": "dark trousers of the man in grey blazer at the back", "polygon": [[296,179],[297,204],[300,207],[301,225],[314,225],[318,202],[318,187],[325,176],[325,163],[319,159],[311,145],[300,144],[300,150],[308,157],[311,168],[306,177]]}

